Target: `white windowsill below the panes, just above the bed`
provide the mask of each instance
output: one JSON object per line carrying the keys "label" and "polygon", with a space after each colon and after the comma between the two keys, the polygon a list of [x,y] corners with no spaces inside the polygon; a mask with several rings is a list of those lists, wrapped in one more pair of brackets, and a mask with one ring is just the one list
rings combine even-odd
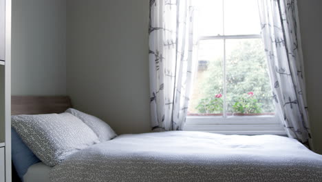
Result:
{"label": "white windowsill below the panes, just above the bed", "polygon": [[218,134],[276,134],[286,136],[283,125],[275,116],[223,117],[188,116],[184,129]]}

